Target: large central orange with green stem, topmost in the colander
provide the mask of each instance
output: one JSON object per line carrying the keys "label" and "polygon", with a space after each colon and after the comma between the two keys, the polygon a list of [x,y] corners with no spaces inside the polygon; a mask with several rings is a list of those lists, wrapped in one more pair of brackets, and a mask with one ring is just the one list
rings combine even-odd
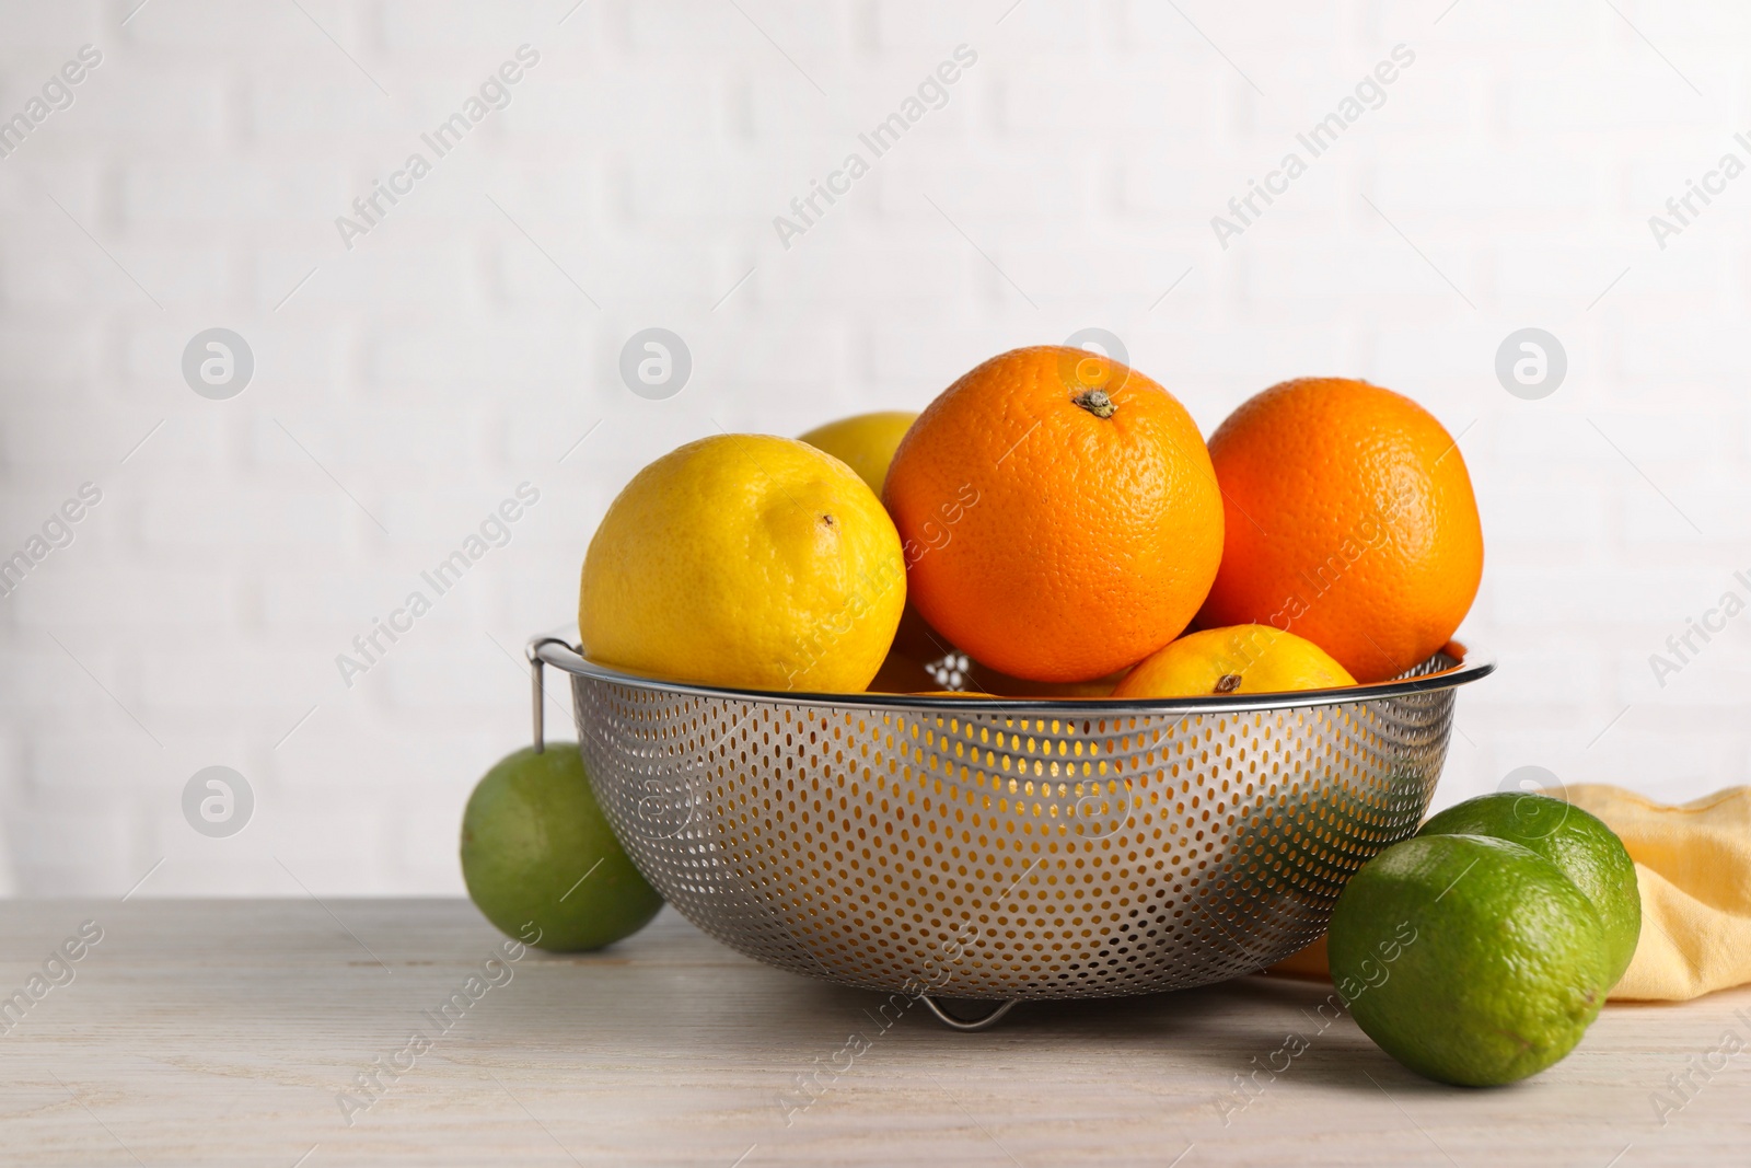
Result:
{"label": "large central orange with green stem, topmost in the colander", "polygon": [[1220,492],[1185,406],[1082,348],[1016,348],[942,391],[900,440],[884,503],[919,615],[1033,681],[1154,653],[1222,557]]}

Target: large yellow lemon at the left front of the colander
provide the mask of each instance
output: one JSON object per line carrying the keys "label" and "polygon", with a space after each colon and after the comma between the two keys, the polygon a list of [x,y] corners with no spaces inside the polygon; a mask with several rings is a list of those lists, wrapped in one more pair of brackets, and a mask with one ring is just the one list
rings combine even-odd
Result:
{"label": "large yellow lemon at the left front of the colander", "polygon": [[900,536],[814,447],[716,434],[639,471],[583,557],[578,630],[604,665],[756,690],[858,692],[905,606]]}

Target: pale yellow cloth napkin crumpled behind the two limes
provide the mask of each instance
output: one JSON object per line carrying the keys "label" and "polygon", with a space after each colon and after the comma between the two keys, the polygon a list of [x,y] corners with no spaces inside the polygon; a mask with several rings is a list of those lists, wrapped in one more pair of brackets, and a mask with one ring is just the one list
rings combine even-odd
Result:
{"label": "pale yellow cloth napkin crumpled behind the two limes", "polygon": [[[1642,932],[1609,1000],[1688,1002],[1751,982],[1751,786],[1683,807],[1595,783],[1551,793],[1604,820],[1635,862]],[[1271,972],[1329,977],[1326,939]]]}

